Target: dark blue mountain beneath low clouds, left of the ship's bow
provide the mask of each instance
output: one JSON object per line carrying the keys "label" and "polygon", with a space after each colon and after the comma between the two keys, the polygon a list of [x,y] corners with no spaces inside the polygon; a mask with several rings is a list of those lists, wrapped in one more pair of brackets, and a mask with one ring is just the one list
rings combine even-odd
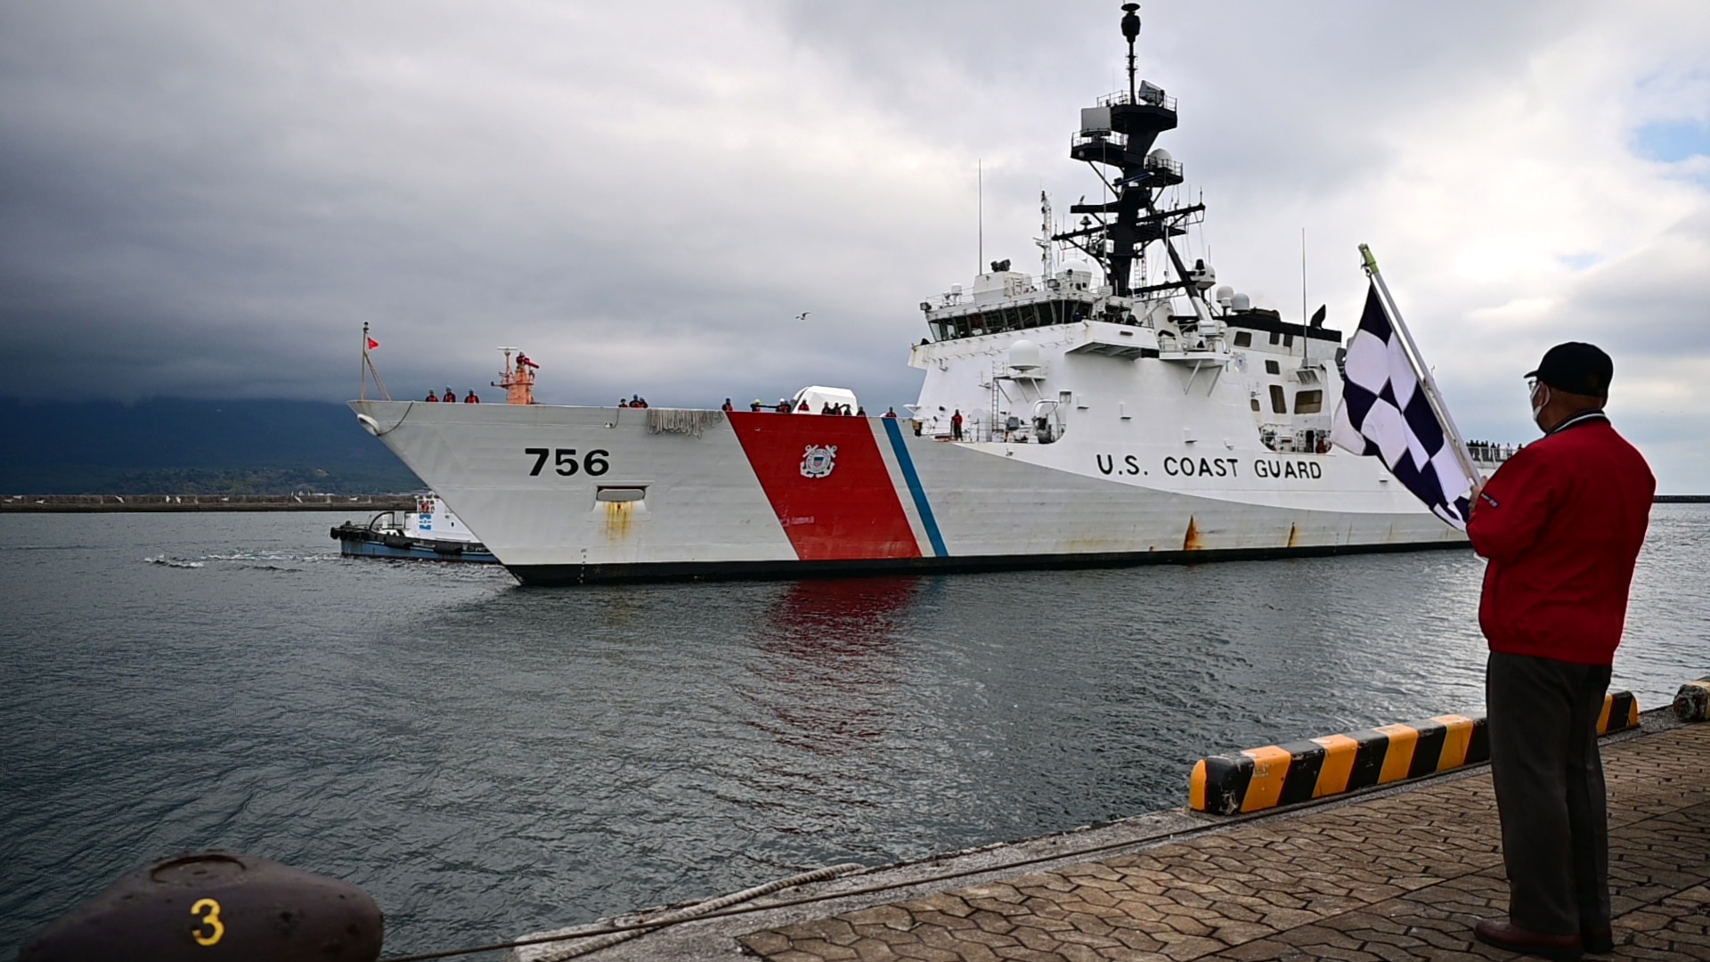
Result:
{"label": "dark blue mountain beneath low clouds, left of the ship's bow", "polygon": [[421,479],[363,431],[344,404],[0,397],[0,491],[9,495],[357,495],[421,488]]}

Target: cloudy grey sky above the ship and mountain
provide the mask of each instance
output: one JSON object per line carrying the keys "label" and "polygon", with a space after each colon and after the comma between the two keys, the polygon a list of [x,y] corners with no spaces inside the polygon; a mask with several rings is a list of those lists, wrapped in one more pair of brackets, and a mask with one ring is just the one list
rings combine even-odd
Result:
{"label": "cloudy grey sky above the ship and mountain", "polygon": [[[918,301],[1036,269],[1115,2],[0,5],[0,394],[913,399]],[[1144,3],[1219,281],[1351,329],[1371,243],[1471,436],[1589,339],[1710,491],[1710,5]],[[805,322],[793,317],[809,312]]]}

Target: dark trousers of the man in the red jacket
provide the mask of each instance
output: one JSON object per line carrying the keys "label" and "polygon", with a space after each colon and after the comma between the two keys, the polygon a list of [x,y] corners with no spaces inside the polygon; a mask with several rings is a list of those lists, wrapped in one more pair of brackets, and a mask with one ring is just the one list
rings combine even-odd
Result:
{"label": "dark trousers of the man in the red jacket", "polygon": [[1484,710],[1508,917],[1544,935],[1609,928],[1609,810],[1597,716],[1609,666],[1491,652]]}

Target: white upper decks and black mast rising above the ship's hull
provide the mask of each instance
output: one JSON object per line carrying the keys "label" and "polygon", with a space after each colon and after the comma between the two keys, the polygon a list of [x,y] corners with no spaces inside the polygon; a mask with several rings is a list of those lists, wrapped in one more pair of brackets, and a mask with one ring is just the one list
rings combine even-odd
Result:
{"label": "white upper decks and black mast rising above the ship's hull", "polygon": [[[1322,310],[1310,322],[1284,322],[1247,294],[1218,288],[1204,258],[1183,258],[1176,238],[1204,217],[1206,204],[1163,204],[1182,183],[1182,164],[1154,142],[1176,127],[1176,101],[1137,80],[1139,29],[1137,7],[1125,3],[1129,89],[1084,108],[1069,145],[1112,199],[1072,205],[1079,224],[1055,229],[1041,193],[1040,274],[999,260],[970,289],[958,284],[922,301],[932,337],[910,358],[927,371],[917,414],[934,436],[952,435],[949,421],[961,411],[971,440],[1053,443],[1070,423],[1117,438],[1123,428],[1153,430],[1180,407],[1173,397],[1141,395],[1154,394],[1146,382],[1185,371],[1188,407],[1199,407],[1195,394],[1218,397],[1228,378],[1233,394],[1245,392],[1265,448],[1324,454],[1342,336],[1324,327]],[[1098,270],[1077,260],[1058,265],[1062,248]],[[1149,265],[1161,267],[1156,282],[1144,282]],[[1226,387],[1224,402],[1229,394]],[[1112,407],[1115,426],[1105,411]]]}

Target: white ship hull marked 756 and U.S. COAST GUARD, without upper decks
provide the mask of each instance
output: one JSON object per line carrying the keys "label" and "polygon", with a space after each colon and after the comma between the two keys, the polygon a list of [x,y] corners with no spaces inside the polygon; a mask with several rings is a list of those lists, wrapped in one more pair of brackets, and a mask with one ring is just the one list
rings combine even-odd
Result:
{"label": "white ship hull marked 756 and U.S. COAST GUARD, without upper decks", "polygon": [[[747,411],[351,406],[525,584],[1465,544],[1349,454],[1108,433],[940,442],[910,421]],[[662,416],[705,425],[655,433]]]}

